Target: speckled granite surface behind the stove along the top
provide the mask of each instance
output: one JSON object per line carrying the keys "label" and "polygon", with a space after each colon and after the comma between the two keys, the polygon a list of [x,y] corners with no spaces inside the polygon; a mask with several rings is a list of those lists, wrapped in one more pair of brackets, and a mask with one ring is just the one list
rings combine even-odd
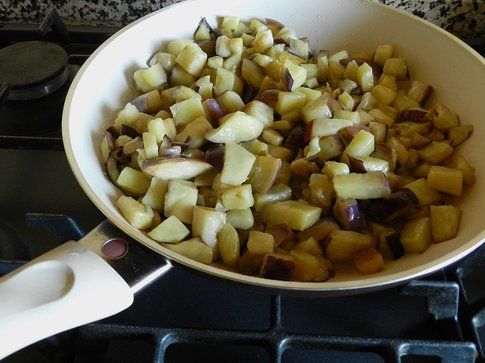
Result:
{"label": "speckled granite surface behind the stove along the top", "polygon": [[[0,21],[39,22],[56,7],[67,23],[122,26],[182,0],[0,0]],[[485,0],[374,0],[461,36],[485,37]]]}

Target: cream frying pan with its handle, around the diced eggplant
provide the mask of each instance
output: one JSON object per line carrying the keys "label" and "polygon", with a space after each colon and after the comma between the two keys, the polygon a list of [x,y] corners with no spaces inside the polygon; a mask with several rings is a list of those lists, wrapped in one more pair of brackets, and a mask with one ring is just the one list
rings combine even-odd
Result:
{"label": "cream frying pan with its handle, around the diced eggplant", "polygon": [[[207,266],[170,251],[131,227],[115,207],[121,192],[101,167],[98,150],[103,130],[135,97],[132,76],[136,69],[146,66],[150,56],[168,41],[191,37],[200,17],[214,24],[224,15],[277,19],[299,35],[310,37],[312,49],[363,51],[378,44],[394,44],[396,53],[407,59],[411,77],[432,84],[434,95],[457,112],[462,123],[474,125],[473,136],[459,151],[475,166],[477,182],[459,199],[463,216],[458,236],[433,244],[422,254],[389,262],[376,274],[361,275],[349,268],[339,270],[329,281],[304,283],[243,276]],[[81,241],[61,245],[0,279],[0,358],[49,335],[127,308],[134,291],[174,263],[279,293],[330,296],[397,285],[460,259],[485,239],[485,218],[480,212],[485,201],[480,194],[485,188],[484,91],[485,61],[474,50],[430,23],[366,0],[307,0],[304,4],[294,0],[195,0],[130,24],[81,67],[67,95],[62,124],[74,175],[117,228],[104,222]]]}

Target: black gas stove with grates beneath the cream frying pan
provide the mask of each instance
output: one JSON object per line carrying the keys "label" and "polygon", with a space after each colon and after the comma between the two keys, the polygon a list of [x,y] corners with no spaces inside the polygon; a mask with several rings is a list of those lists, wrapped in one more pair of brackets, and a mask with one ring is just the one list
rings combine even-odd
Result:
{"label": "black gas stove with grates beneath the cream frying pan", "polygon": [[[79,66],[117,30],[66,26],[55,10],[40,25],[0,24],[0,275],[104,219],[70,171],[61,114]],[[483,39],[466,41],[483,54]],[[15,57],[26,68],[2,78]],[[484,263],[482,247],[425,279],[339,298],[274,296],[174,268],[128,310],[4,361],[485,361]]]}

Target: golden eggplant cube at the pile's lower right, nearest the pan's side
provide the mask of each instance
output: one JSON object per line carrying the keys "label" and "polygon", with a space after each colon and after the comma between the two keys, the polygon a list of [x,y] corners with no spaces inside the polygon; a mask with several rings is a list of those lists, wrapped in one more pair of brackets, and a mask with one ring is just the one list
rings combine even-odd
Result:
{"label": "golden eggplant cube at the pile's lower right, nearest the pan's side", "polygon": [[460,227],[460,210],[453,205],[432,205],[431,233],[434,242],[443,242],[456,237]]}

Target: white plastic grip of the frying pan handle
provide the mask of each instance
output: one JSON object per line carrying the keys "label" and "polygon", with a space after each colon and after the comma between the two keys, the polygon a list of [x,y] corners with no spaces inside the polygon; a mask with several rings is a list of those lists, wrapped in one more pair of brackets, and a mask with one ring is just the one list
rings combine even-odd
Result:
{"label": "white plastic grip of the frying pan handle", "polygon": [[108,263],[67,242],[0,278],[0,359],[132,303],[130,287]]}

